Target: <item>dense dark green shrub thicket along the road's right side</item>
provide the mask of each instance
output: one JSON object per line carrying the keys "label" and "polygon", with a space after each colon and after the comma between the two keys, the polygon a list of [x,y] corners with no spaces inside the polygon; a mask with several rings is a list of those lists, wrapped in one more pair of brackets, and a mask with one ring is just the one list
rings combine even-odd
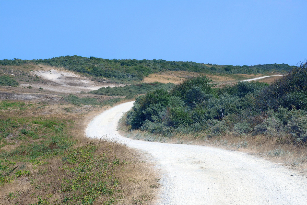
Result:
{"label": "dense dark green shrub thicket along the road's right side", "polygon": [[306,144],[306,63],[272,85],[240,81],[213,89],[210,82],[193,77],[169,93],[150,91],[136,99],[126,123],[164,136],[207,130],[210,136],[264,134]]}

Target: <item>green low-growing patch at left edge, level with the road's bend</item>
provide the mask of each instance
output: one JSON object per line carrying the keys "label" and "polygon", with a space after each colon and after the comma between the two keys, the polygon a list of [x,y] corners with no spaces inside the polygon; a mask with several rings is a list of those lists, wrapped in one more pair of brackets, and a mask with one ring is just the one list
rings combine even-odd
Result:
{"label": "green low-growing patch at left edge, level with the road's bend", "polygon": [[[9,151],[2,150],[1,159],[29,163],[63,153],[75,144],[67,133],[67,124],[72,125],[73,122],[44,117],[10,117],[7,112],[1,112],[1,148],[8,145],[8,140],[23,142]],[[1,183],[10,177],[4,172],[1,172],[1,176]]]}

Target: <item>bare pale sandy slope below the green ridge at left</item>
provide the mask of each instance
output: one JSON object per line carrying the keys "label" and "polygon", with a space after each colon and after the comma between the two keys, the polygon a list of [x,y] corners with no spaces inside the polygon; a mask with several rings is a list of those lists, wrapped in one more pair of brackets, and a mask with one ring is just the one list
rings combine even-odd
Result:
{"label": "bare pale sandy slope below the green ridge at left", "polygon": [[[58,93],[80,93],[102,87],[125,86],[108,81],[97,82],[89,77],[48,65],[1,66],[1,75],[14,76],[20,88],[32,87]],[[25,78],[26,77],[26,78]]]}

